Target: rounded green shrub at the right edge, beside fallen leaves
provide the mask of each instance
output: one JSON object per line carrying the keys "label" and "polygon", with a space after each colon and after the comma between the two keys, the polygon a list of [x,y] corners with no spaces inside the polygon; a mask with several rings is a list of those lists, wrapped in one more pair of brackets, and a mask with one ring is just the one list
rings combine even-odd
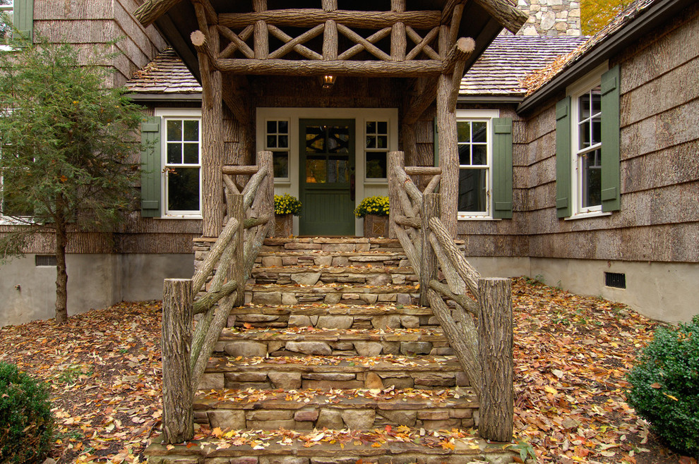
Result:
{"label": "rounded green shrub at the right edge, beside fallen leaves", "polygon": [[699,454],[699,315],[660,328],[628,374],[626,401],[670,448]]}

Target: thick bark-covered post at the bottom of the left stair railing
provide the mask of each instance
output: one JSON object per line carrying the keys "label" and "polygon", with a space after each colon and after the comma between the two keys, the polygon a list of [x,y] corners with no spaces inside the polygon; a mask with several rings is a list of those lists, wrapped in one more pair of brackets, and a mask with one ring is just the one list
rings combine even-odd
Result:
{"label": "thick bark-covered post at the bottom of the left stair railing", "polygon": [[165,279],[162,291],[162,435],[166,444],[194,436],[189,350],[192,281]]}

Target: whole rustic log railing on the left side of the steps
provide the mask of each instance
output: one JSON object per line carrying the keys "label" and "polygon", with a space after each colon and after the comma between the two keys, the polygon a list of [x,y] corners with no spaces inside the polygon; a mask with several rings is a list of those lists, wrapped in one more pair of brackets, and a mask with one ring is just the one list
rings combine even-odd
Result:
{"label": "whole rustic log railing on the left side of the steps", "polygon": [[[244,303],[245,282],[273,231],[272,153],[260,152],[256,166],[224,166],[222,176],[223,231],[192,279],[166,279],[163,290],[162,429],[169,444],[193,437],[194,393],[232,308]],[[250,177],[239,189],[233,176]],[[195,315],[201,317],[192,331]]]}

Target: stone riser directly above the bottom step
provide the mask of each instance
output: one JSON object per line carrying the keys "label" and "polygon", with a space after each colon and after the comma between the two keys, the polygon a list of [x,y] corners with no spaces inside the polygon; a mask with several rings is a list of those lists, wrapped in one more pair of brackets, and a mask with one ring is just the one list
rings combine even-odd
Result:
{"label": "stone riser directly above the bottom step", "polygon": [[369,430],[384,428],[386,425],[405,425],[426,430],[470,428],[475,425],[474,415],[477,416],[477,409],[474,410],[470,406],[450,405],[448,408],[428,404],[407,404],[412,408],[401,408],[401,406],[403,405],[392,404],[390,405],[392,409],[381,410],[371,408],[370,404],[362,405],[361,408],[331,408],[301,404],[299,408],[242,410],[227,409],[222,405],[218,405],[216,409],[199,409],[205,408],[205,405],[195,403],[194,418],[199,424],[212,428],[220,427],[222,430],[283,428],[309,432],[313,429],[322,430],[323,427],[333,430],[347,428]]}

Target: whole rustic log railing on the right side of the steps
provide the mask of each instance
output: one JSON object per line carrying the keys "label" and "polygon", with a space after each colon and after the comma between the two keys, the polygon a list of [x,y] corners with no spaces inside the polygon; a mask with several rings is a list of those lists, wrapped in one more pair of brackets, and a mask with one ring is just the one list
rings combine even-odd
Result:
{"label": "whole rustic log railing on the right side of the steps", "polygon": [[[403,152],[391,152],[388,165],[390,233],[400,240],[419,276],[420,304],[431,307],[480,398],[479,434],[510,441],[514,406],[510,280],[482,279],[459,251],[439,218],[440,198],[434,192],[441,168],[405,167]],[[421,192],[410,176],[432,177]],[[446,283],[438,279],[439,271]]]}

